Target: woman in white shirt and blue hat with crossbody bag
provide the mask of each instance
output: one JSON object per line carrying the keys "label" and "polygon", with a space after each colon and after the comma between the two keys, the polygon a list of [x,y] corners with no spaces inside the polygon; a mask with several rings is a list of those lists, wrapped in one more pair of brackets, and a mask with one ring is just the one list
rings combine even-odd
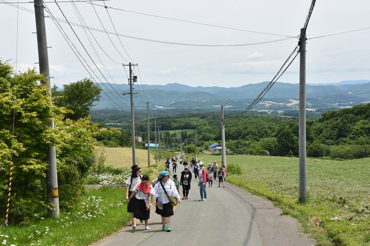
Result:
{"label": "woman in white shirt and blue hat with crossbody bag", "polygon": [[162,171],[158,175],[158,182],[153,189],[153,198],[154,206],[156,206],[155,212],[162,217],[162,231],[171,232],[171,216],[174,215],[174,212],[164,189],[169,196],[175,196],[178,199],[178,203],[181,203],[175,183],[169,179],[166,171]]}

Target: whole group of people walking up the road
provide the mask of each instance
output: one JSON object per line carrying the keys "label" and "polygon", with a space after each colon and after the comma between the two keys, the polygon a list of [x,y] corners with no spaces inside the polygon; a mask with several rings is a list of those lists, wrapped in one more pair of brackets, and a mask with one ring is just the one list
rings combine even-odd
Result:
{"label": "whole group of people walking up the road", "polygon": [[[173,164],[174,173],[177,171],[176,159],[172,159],[174,160],[173,163],[175,163],[175,166]],[[187,160],[186,163],[188,163],[187,158],[180,160],[182,162]],[[149,177],[147,175],[141,175],[141,168],[137,165],[131,167],[131,176],[126,179],[125,183],[127,185],[127,212],[131,213],[133,230],[136,230],[137,220],[140,220],[141,223],[145,223],[145,230],[150,230],[148,220],[150,218],[151,200],[153,199],[155,212],[161,216],[162,231],[171,232],[171,216],[174,215],[174,211],[170,199],[176,199],[178,203],[181,203],[179,195],[180,186],[182,188],[182,199],[188,199],[193,176],[192,170],[195,178],[198,178],[200,193],[199,201],[207,201],[207,182],[208,187],[212,188],[213,180],[217,175],[219,181],[218,187],[223,183],[223,187],[225,188],[225,177],[227,174],[226,167],[223,165],[218,169],[216,161],[214,161],[213,166],[209,163],[207,169],[204,167],[204,163],[202,161],[196,162],[194,160],[191,165],[193,166],[192,168],[188,165],[184,165],[184,169],[180,174],[180,180],[178,179],[177,174],[173,175],[173,180],[170,178],[171,171],[169,159],[165,161],[164,165],[164,170],[161,171],[158,177],[152,181],[152,186],[150,185]]]}

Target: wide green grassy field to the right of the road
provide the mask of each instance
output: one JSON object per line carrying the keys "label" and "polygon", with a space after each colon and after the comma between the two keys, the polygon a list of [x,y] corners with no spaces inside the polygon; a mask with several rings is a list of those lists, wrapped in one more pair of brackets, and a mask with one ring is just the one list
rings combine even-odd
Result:
{"label": "wide green grassy field to the right of the road", "polygon": [[[221,156],[199,155],[205,163]],[[276,156],[227,156],[242,173],[228,181],[267,197],[285,214],[298,218],[317,245],[370,245],[370,158],[307,159],[308,202],[298,202],[299,159]]]}

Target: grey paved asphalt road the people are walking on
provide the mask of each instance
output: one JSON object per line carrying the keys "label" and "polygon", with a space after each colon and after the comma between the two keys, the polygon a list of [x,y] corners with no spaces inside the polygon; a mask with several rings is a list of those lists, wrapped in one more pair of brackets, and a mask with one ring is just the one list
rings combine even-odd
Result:
{"label": "grey paved asphalt road the people are walking on", "polygon": [[[180,193],[182,197],[181,188]],[[265,198],[228,183],[226,188],[218,188],[217,181],[213,188],[207,187],[207,196],[207,201],[198,201],[199,188],[193,179],[189,199],[181,200],[174,208],[171,232],[161,231],[160,216],[152,206],[151,230],[144,230],[141,223],[135,231],[131,226],[123,227],[91,246],[314,244],[309,235],[300,232],[300,224],[295,219],[282,216],[281,210]]]}

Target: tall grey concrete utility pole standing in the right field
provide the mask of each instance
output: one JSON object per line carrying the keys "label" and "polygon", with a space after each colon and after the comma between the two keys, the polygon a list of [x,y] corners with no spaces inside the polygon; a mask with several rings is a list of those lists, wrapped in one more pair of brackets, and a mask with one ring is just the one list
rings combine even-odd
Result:
{"label": "tall grey concrete utility pole standing in the right field", "polygon": [[306,31],[300,37],[299,200],[306,202]]}

